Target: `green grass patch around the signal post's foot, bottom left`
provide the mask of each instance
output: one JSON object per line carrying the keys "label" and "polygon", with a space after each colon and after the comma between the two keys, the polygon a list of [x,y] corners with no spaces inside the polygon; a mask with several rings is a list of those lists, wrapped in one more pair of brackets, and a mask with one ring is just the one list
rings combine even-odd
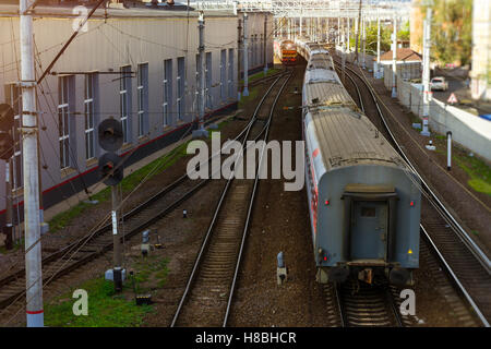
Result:
{"label": "green grass patch around the signal post's foot, bottom left", "polygon": [[88,280],[80,288],[87,291],[88,314],[86,316],[73,314],[72,306],[76,299],[69,292],[45,304],[46,326],[139,327],[143,323],[144,315],[154,310],[153,305],[137,306],[133,298],[127,300],[122,294],[115,294],[112,282],[104,278]]}

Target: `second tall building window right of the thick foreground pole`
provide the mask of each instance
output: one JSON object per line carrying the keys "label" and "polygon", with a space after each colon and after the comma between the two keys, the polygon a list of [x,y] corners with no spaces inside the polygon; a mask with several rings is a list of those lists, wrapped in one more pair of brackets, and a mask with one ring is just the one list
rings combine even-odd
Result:
{"label": "second tall building window right of the thick foreground pole", "polygon": [[97,84],[97,73],[85,74],[85,159],[92,159],[95,155],[95,91]]}

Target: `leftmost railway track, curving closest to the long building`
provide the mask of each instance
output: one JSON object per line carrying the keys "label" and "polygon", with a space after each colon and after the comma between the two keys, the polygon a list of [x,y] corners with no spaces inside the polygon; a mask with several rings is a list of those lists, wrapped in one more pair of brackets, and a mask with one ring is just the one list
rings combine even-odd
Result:
{"label": "leftmost railway track, curving closest to the long building", "polygon": [[[276,79],[278,80],[284,74],[279,74],[279,77]],[[253,120],[251,119],[235,140],[243,139],[252,123]],[[219,155],[212,155],[208,158],[208,164],[215,156]],[[141,233],[144,229],[176,209],[208,181],[209,179],[193,181],[189,179],[187,173],[182,174],[147,201],[123,215],[121,221],[124,225],[124,234],[121,239],[128,240]],[[99,224],[95,230],[68,246],[43,257],[43,284],[45,287],[112,250],[112,226],[111,224],[106,224],[106,221]],[[0,314],[13,303],[24,300],[25,289],[24,268],[20,268],[1,278]]]}

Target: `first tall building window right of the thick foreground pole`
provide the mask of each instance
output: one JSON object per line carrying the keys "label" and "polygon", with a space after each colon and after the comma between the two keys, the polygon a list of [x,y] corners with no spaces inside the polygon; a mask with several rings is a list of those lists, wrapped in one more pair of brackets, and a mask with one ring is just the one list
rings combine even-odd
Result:
{"label": "first tall building window right of the thick foreground pole", "polygon": [[74,97],[73,76],[62,76],[58,84],[58,140],[60,144],[60,168],[71,166],[70,161],[70,128],[71,104]]}

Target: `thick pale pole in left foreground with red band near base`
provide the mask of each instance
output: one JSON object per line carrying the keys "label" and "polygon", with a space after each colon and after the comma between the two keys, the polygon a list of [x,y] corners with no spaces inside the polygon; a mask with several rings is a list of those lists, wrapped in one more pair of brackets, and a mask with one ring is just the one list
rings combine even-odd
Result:
{"label": "thick pale pole in left foreground with red band near base", "polygon": [[33,17],[28,0],[20,0],[22,147],[24,167],[25,280],[27,327],[44,327],[36,76]]}

